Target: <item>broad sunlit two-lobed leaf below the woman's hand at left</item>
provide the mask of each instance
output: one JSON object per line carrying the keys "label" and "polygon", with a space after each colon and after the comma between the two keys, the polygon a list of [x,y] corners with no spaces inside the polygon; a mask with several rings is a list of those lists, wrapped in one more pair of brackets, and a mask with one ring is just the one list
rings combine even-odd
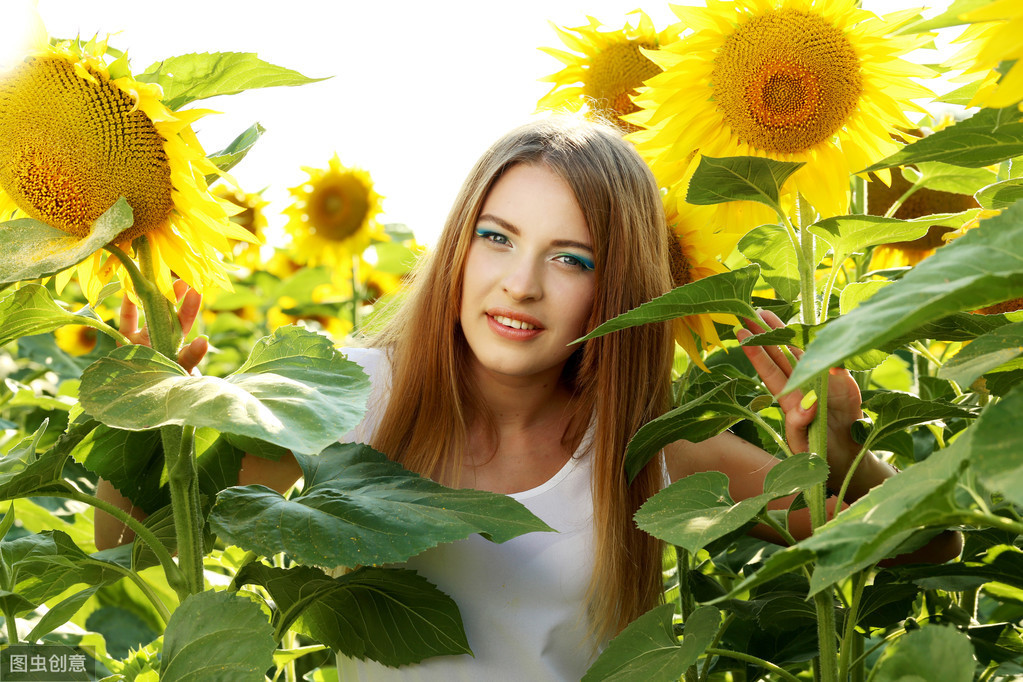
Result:
{"label": "broad sunlit two-lobed leaf below the woman's hand at left", "polygon": [[144,346],[119,348],[82,374],[89,414],[115,428],[210,426],[317,453],[362,417],[369,380],[330,339],[295,326],[260,339],[226,378],[191,376]]}

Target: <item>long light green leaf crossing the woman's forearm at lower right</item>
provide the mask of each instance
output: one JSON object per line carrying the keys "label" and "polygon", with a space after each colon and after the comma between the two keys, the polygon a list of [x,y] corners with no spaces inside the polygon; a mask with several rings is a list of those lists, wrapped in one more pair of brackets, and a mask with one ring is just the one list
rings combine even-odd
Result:
{"label": "long light green leaf crossing the woman's forearm at lower right", "polygon": [[887,479],[800,542],[817,556],[810,594],[889,556],[919,530],[953,522],[952,491],[970,456],[968,441],[961,437]]}

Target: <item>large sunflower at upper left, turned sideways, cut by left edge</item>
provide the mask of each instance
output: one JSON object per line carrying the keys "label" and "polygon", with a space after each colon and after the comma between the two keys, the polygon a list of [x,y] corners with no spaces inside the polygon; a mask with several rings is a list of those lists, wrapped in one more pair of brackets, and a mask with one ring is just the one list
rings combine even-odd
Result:
{"label": "large sunflower at upper left, turned sideways, cut by left edge", "polygon": [[[77,236],[120,196],[134,224],[115,239],[132,254],[146,235],[155,284],[174,299],[173,276],[193,288],[230,288],[220,254],[228,238],[253,241],[210,194],[205,177],[220,171],[206,158],[191,124],[204,110],[171,111],[157,85],[135,80],[127,58],[106,42],[50,45],[36,17],[33,47],[0,75],[0,215],[11,209]],[[219,252],[219,253],[218,253]],[[56,276],[62,288],[77,272],[95,301],[121,262],[97,252]]]}

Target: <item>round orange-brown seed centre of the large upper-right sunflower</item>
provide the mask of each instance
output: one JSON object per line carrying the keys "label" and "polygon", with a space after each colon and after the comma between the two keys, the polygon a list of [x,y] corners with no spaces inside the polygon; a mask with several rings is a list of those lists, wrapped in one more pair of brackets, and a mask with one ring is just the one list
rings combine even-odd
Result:
{"label": "round orange-brown seed centre of the large upper-right sunflower", "polygon": [[859,58],[841,30],[796,9],[755,16],[714,60],[714,99],[751,146],[795,153],[831,138],[862,92]]}

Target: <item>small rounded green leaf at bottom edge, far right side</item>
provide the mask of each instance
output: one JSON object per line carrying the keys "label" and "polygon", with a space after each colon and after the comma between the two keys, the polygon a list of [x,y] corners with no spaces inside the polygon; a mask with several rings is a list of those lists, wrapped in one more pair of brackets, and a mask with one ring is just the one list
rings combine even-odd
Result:
{"label": "small rounded green leaf at bottom edge, far right side", "polygon": [[973,682],[970,638],[955,628],[926,625],[889,646],[878,663],[877,682]]}

